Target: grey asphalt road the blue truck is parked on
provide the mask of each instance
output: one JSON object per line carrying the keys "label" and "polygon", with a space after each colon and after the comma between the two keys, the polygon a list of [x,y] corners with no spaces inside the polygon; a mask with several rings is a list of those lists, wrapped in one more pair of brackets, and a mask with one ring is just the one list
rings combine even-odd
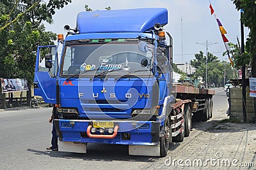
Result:
{"label": "grey asphalt road the blue truck is parked on", "polygon": [[[225,92],[216,92],[213,120],[226,118],[227,108]],[[0,169],[153,169],[153,164],[154,168],[164,164],[164,158],[129,156],[128,147],[122,145],[88,144],[86,154],[47,151],[50,115],[51,108],[0,111]],[[183,145],[209,122],[193,122],[193,131]],[[179,144],[172,145],[168,156],[179,150]]]}

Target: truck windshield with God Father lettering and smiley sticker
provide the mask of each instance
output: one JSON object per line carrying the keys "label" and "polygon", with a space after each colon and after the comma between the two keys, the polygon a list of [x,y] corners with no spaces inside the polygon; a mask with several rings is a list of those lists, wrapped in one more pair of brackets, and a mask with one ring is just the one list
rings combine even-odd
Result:
{"label": "truck windshield with God Father lettering and smiley sticker", "polygon": [[86,39],[85,43],[67,41],[61,64],[61,76],[77,74],[92,77],[104,71],[109,71],[108,76],[114,77],[127,73],[147,76],[152,74],[151,44],[147,43],[147,48],[151,50],[141,52],[138,48],[138,39],[122,39],[109,43],[105,42],[106,39],[102,43],[99,41],[102,40]]}

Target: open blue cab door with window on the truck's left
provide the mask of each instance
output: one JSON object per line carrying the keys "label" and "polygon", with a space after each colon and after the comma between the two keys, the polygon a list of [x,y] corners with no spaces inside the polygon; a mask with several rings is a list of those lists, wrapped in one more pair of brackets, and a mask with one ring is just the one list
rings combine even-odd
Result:
{"label": "open blue cab door with window on the truck's left", "polygon": [[[52,54],[52,67],[45,67],[45,54]],[[45,103],[56,104],[56,74],[58,55],[55,45],[38,46],[34,78],[34,95],[42,96]]]}

